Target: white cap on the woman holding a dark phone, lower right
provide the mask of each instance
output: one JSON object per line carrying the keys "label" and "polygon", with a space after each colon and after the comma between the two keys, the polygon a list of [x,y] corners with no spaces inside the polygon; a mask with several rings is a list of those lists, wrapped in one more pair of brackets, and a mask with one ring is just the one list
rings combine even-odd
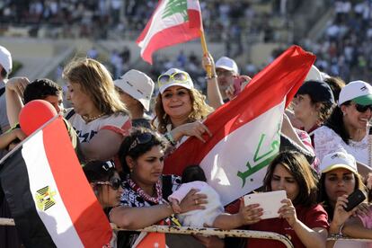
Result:
{"label": "white cap on the woman holding a dark phone, lower right", "polygon": [[349,170],[352,173],[358,173],[357,163],[353,155],[336,152],[323,157],[320,165],[321,173],[328,173],[339,168]]}

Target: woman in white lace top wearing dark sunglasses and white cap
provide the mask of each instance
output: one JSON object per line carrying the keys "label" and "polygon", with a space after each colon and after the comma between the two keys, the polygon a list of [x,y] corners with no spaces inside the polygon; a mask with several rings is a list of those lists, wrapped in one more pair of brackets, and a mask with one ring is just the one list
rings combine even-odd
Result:
{"label": "woman in white lace top wearing dark sunglasses and white cap", "polygon": [[322,160],[324,155],[333,152],[353,155],[359,162],[359,173],[367,174],[368,168],[362,164],[372,166],[371,142],[368,137],[371,111],[371,85],[354,81],[344,86],[331,117],[314,132],[316,156]]}

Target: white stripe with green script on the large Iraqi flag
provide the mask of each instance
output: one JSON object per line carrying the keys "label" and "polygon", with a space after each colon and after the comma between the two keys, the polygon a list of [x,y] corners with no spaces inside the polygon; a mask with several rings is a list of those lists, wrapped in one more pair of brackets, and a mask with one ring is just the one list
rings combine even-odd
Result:
{"label": "white stripe with green script on the large Iraqi flag", "polygon": [[[244,180],[237,176],[237,173],[247,172],[247,162],[254,167],[279,152],[279,146],[273,150],[271,145],[273,141],[280,142],[278,130],[281,127],[284,105],[285,101],[236,129],[218,142],[201,161],[200,166],[207,178],[211,179],[208,183],[217,190],[223,205],[261,187],[267,166],[245,178],[244,187],[242,187]],[[254,153],[261,138],[261,149],[257,154],[259,159],[254,161]],[[270,151],[272,152],[269,153]],[[265,154],[268,155],[260,158]]]}

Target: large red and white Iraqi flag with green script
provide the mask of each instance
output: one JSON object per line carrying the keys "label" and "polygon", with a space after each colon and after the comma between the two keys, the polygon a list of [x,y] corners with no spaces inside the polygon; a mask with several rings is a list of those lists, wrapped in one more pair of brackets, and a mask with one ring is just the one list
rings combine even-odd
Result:
{"label": "large red and white Iraqi flag with green script", "polygon": [[279,152],[283,112],[313,65],[315,56],[297,46],[255,75],[242,93],[208,116],[213,137],[188,138],[165,159],[164,173],[182,174],[200,164],[224,205],[262,185]]}

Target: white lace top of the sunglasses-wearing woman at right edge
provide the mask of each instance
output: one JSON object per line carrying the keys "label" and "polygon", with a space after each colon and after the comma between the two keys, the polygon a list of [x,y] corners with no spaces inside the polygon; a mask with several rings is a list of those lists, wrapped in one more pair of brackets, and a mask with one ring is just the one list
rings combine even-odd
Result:
{"label": "white lace top of the sunglasses-wearing woman at right edge", "polygon": [[[322,161],[324,155],[334,152],[343,152],[353,155],[355,159],[363,164],[369,163],[368,135],[360,141],[349,141],[346,144],[342,138],[331,128],[320,127],[314,131],[315,155]],[[371,166],[371,164],[368,164]]]}

